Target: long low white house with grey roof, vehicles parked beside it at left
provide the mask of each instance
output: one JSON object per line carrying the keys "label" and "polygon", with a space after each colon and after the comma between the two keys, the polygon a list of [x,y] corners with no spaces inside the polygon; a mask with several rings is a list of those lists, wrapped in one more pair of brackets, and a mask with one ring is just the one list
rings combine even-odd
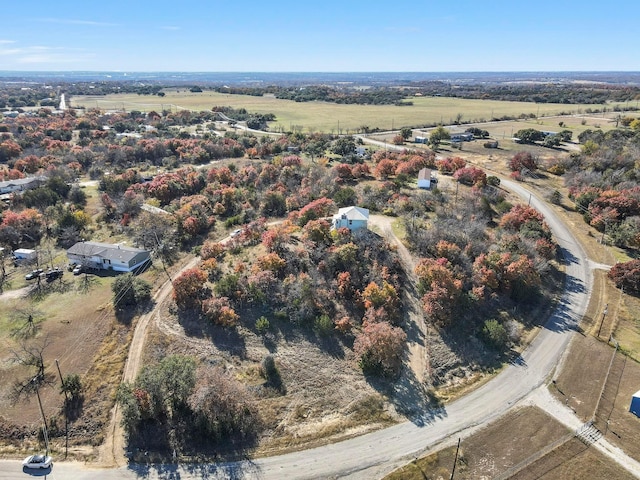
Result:
{"label": "long low white house with grey roof, vehicles parked beside it at left", "polygon": [[141,248],[99,242],[78,242],[67,250],[69,262],[98,270],[133,272],[151,261]]}

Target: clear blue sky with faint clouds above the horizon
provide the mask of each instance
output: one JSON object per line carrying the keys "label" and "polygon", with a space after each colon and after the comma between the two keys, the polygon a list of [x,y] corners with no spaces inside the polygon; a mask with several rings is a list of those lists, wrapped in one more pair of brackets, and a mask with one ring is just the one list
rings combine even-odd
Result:
{"label": "clear blue sky with faint clouds above the horizon", "polygon": [[4,0],[0,70],[640,71],[633,0]]}

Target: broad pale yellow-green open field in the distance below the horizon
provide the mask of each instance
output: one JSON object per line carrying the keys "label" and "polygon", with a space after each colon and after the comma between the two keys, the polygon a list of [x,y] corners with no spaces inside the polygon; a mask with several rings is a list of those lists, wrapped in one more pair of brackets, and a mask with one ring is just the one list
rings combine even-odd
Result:
{"label": "broad pale yellow-green open field in the distance below the horizon", "polygon": [[[413,105],[338,105],[327,102],[294,102],[273,96],[253,97],[217,92],[191,93],[188,90],[167,89],[164,97],[137,94],[72,97],[73,107],[101,110],[210,110],[214,106],[245,108],[249,112],[273,113],[277,120],[272,131],[304,131],[325,133],[356,133],[367,126],[371,129],[394,130],[403,126],[419,127],[433,124],[453,124],[461,115],[465,123],[476,123],[520,115],[549,116],[584,113],[601,109],[602,105],[536,104],[530,102],[500,102],[495,100],[465,100],[449,97],[413,97]],[[609,110],[614,105],[607,106]],[[523,127],[526,128],[526,127]],[[538,129],[540,126],[538,125]]]}

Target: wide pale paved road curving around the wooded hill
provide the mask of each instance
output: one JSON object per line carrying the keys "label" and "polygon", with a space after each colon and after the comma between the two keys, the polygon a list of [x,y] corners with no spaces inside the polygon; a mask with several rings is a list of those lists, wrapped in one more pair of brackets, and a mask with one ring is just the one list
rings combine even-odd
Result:
{"label": "wide pale paved road curving around the wooded hill", "polygon": [[[168,473],[173,474],[172,478],[183,480],[205,477],[264,480],[378,478],[433,446],[466,436],[474,428],[504,414],[553,374],[574,327],[586,311],[592,276],[584,250],[553,210],[521,184],[504,180],[502,186],[520,195],[545,216],[565,259],[566,288],[553,315],[531,345],[490,382],[440,411],[425,412],[422,419],[310,450],[234,463],[164,465],[158,470],[142,465],[87,470],[79,464],[59,464],[54,467],[51,478],[56,478],[56,472],[63,471],[64,477],[58,478],[109,480],[133,479],[139,475],[169,478]],[[18,462],[3,463],[19,466]],[[0,479],[23,478],[24,474],[19,473],[16,476],[0,474]]]}

